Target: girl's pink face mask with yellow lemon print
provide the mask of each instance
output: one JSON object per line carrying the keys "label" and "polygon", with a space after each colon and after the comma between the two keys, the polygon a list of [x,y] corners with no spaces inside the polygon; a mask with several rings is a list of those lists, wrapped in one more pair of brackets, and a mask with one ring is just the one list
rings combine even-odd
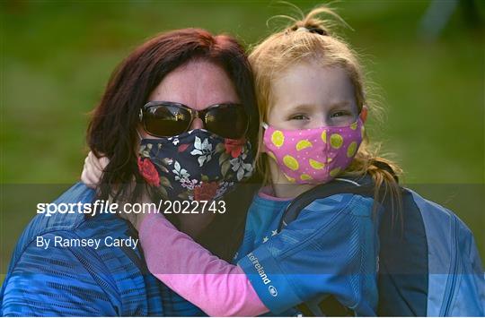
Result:
{"label": "girl's pink face mask with yellow lemon print", "polygon": [[304,130],[263,124],[263,142],[287,179],[296,184],[323,184],[344,171],[364,135],[360,117],[351,125]]}

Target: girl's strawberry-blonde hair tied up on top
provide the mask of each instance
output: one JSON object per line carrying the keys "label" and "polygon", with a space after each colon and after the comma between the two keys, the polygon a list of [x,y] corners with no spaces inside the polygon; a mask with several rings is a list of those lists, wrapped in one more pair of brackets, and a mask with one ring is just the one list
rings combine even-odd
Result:
{"label": "girl's strawberry-blonde hair tied up on top", "polygon": [[[260,120],[268,122],[273,101],[273,79],[288,66],[305,60],[318,61],[322,66],[343,68],[354,85],[358,111],[360,112],[365,105],[369,110],[375,111],[375,106],[369,105],[369,101],[366,100],[366,82],[357,54],[343,39],[331,34],[331,21],[322,21],[318,18],[322,13],[330,14],[343,22],[330,8],[320,6],[300,21],[287,17],[294,22],[293,25],[270,35],[252,49],[249,59],[255,76]],[[262,132],[259,136],[259,150],[261,147]],[[386,193],[390,192],[391,203],[394,205],[401,202],[400,188],[397,178],[394,177],[401,174],[401,168],[391,160],[379,157],[377,152],[378,150],[371,149],[367,134],[364,133],[364,140],[357,155],[345,172],[352,176],[372,176],[375,183],[375,202],[379,202],[379,199],[384,200]],[[261,151],[258,153],[261,154]],[[260,155],[257,159],[257,167],[265,185],[271,181],[268,160],[269,157],[266,155]],[[388,171],[388,168],[391,168],[392,172]],[[379,189],[382,186],[384,195],[381,196]]]}

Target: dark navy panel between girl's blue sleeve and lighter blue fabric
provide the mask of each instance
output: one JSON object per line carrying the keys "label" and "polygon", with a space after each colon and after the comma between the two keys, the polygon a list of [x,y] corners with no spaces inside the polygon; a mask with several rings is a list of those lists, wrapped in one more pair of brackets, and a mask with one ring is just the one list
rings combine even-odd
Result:
{"label": "dark navy panel between girl's blue sleeve and lighter blue fabric", "polygon": [[426,316],[428,241],[409,192],[402,193],[402,218],[386,205],[379,228],[379,307],[384,316]]}

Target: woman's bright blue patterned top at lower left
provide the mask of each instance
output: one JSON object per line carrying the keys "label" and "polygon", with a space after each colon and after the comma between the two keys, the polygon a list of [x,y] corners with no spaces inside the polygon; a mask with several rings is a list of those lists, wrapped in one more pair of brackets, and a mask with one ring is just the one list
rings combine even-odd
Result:
{"label": "woman's bright blue patterned top at lower left", "polygon": [[[93,199],[93,190],[79,183],[56,203]],[[56,237],[86,244],[88,239],[99,239],[101,244],[53,246]],[[147,271],[139,245],[115,247],[115,239],[135,240],[137,231],[113,214],[36,216],[13,252],[0,292],[0,315],[206,315]],[[46,242],[42,240],[51,240],[50,246],[41,246]]]}

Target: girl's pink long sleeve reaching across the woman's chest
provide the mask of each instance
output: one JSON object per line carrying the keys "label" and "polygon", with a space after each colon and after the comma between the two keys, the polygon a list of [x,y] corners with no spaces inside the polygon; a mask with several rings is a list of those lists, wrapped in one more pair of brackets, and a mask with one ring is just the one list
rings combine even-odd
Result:
{"label": "girl's pink long sleeve reaching across the woman's chest", "polygon": [[257,316],[269,312],[239,266],[225,262],[151,213],[139,230],[148,270],[211,316]]}

